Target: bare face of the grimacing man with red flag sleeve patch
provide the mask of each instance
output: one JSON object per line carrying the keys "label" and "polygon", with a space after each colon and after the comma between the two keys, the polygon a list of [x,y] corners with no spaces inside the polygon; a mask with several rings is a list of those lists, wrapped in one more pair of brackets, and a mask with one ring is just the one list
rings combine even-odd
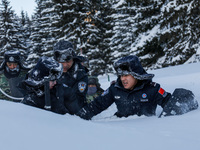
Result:
{"label": "bare face of the grimacing man with red flag sleeve patch", "polygon": [[135,85],[137,84],[138,80],[135,79],[132,75],[122,75],[120,77],[122,81],[122,85],[124,86],[125,89],[127,90],[132,90]]}

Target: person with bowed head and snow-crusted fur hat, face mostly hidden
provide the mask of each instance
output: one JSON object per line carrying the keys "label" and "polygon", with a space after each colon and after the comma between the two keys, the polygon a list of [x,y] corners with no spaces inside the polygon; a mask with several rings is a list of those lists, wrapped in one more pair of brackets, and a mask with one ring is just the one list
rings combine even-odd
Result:
{"label": "person with bowed head and snow-crusted fur hat, face mostly hidden", "polygon": [[20,87],[26,90],[22,103],[55,113],[65,114],[62,85],[56,83],[62,75],[62,65],[53,58],[43,56]]}

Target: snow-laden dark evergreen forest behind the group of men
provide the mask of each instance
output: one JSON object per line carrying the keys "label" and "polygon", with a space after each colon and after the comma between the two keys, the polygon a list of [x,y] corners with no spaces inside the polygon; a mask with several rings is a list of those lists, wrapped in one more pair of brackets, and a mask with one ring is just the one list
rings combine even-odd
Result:
{"label": "snow-laden dark evergreen forest behind the group of men", "polygon": [[35,0],[35,13],[17,16],[9,0],[0,3],[0,60],[21,51],[33,66],[53,56],[60,39],[89,59],[91,74],[112,73],[119,57],[133,54],[145,68],[199,62],[198,0]]}

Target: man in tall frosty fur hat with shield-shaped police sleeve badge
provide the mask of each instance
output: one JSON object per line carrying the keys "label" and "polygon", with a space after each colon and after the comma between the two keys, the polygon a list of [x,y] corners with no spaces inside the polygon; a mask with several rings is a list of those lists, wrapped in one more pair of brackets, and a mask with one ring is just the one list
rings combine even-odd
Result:
{"label": "man in tall frosty fur hat with shield-shaped police sleeve badge", "polygon": [[55,44],[54,58],[63,65],[63,74],[58,82],[66,87],[64,91],[65,107],[73,115],[86,104],[87,70],[81,65],[81,61],[69,41],[61,40]]}

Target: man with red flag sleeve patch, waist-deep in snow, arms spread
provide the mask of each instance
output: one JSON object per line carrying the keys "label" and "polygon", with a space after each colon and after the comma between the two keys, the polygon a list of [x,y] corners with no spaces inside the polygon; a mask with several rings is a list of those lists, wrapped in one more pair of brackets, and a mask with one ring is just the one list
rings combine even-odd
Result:
{"label": "man with red flag sleeve patch, waist-deep in snow, arms spread", "polygon": [[126,56],[114,63],[118,79],[93,102],[82,108],[77,115],[91,119],[115,103],[117,117],[130,115],[155,115],[157,105],[163,108],[160,116],[180,115],[197,109],[198,103],[191,91],[176,89],[171,95],[159,84],[152,82],[137,56]]}

